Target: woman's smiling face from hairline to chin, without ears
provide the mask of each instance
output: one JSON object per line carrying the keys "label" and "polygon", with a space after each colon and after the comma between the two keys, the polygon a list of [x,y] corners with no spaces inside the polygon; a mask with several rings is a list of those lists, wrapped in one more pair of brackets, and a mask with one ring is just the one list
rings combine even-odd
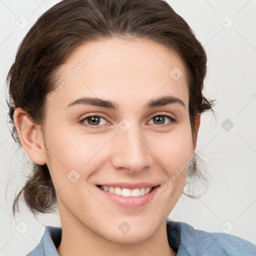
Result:
{"label": "woman's smiling face from hairline to chin, without ears", "polygon": [[78,47],[57,79],[43,137],[62,226],[117,243],[150,237],[194,152],[181,59],[155,42],[110,38]]}

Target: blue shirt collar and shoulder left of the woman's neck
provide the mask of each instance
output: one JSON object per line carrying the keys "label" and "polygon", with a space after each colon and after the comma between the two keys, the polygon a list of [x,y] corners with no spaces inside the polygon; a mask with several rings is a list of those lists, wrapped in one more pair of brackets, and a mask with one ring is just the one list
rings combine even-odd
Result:
{"label": "blue shirt collar and shoulder left of the woman's neck", "polygon": [[61,234],[61,227],[46,226],[40,242],[26,256],[59,256],[56,247],[60,244]]}

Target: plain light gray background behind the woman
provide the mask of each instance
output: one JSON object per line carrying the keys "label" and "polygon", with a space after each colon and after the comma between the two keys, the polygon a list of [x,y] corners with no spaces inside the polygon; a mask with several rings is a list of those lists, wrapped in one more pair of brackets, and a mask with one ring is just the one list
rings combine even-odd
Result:
{"label": "plain light gray background behind the woman", "polygon": [[[56,2],[0,0],[0,255],[25,255],[39,242],[44,225],[60,226],[58,214],[40,215],[37,221],[23,207],[15,219],[12,216],[12,200],[29,174],[29,161],[10,136],[5,103],[5,77],[21,39]],[[208,191],[198,199],[181,196],[169,217],[256,243],[256,0],[168,2],[204,45],[204,94],[217,99],[217,121],[211,113],[203,114],[197,140],[211,176]],[[29,24],[22,27],[26,19]],[[234,124],[228,131],[222,127],[226,118]]]}

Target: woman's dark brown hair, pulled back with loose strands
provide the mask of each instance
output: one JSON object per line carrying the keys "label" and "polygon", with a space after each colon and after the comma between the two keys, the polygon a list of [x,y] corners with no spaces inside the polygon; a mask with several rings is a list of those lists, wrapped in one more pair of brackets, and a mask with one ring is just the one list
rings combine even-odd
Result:
{"label": "woman's dark brown hair, pulled back with loose strands", "polygon": [[[21,107],[43,130],[46,95],[53,90],[58,67],[78,46],[114,36],[157,42],[182,59],[189,90],[189,120],[196,140],[195,118],[206,110],[214,113],[214,100],[202,95],[206,53],[186,21],[164,0],[62,0],[29,29],[7,74],[8,117],[12,137],[19,148],[14,108]],[[195,176],[204,179],[193,159],[187,180]],[[33,163],[31,175],[14,198],[13,215],[21,195],[33,214],[52,211],[56,193],[46,164]]]}

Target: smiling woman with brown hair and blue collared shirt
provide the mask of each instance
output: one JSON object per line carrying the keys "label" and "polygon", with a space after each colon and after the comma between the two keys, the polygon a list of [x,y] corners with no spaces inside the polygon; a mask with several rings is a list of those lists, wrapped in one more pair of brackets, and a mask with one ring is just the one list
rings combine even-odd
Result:
{"label": "smiling woman with brown hair and blue collared shirt", "polygon": [[[34,163],[20,195],[57,205],[28,255],[234,255],[256,246],[166,222],[190,178],[206,54],[161,0],[63,0],[23,39],[8,73],[13,137]],[[183,168],[181,168],[183,166]]]}

